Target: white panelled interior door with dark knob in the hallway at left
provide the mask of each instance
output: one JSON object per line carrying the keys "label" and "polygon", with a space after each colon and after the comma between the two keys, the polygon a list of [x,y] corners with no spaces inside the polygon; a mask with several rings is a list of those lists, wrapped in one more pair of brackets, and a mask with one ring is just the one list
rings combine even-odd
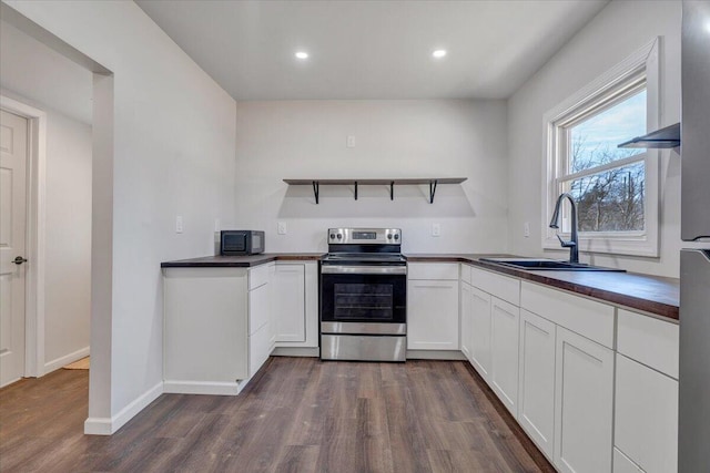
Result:
{"label": "white panelled interior door with dark knob in the hallway at left", "polygon": [[0,111],[0,387],[24,374],[28,121]]}

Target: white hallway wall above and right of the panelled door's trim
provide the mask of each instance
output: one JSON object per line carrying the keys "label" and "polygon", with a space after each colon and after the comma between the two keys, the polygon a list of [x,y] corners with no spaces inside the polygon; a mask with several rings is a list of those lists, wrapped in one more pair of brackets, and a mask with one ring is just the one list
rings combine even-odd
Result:
{"label": "white hallway wall above and right of the panelled door's trim", "polygon": [[47,373],[89,351],[92,144],[91,117],[79,102],[91,103],[91,73],[9,23],[0,28],[0,92],[47,113],[44,358],[39,360]]}

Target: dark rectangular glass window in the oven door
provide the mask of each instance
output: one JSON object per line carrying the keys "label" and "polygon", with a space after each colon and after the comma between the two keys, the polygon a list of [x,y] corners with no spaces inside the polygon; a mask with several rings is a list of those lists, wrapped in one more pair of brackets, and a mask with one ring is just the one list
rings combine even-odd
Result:
{"label": "dark rectangular glass window in the oven door", "polygon": [[335,284],[333,290],[335,320],[392,320],[394,286],[392,284]]}

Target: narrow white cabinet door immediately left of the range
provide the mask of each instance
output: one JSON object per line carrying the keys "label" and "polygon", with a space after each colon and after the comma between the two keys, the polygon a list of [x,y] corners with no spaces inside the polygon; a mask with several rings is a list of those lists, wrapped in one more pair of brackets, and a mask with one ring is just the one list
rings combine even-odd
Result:
{"label": "narrow white cabinet door immediately left of the range", "polygon": [[276,341],[306,341],[305,266],[276,265],[273,294]]}

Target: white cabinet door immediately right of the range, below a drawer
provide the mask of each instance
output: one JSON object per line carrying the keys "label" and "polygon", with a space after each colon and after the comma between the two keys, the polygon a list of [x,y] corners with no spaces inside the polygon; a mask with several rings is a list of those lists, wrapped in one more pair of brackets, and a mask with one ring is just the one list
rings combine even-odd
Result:
{"label": "white cabinet door immediately right of the range, below a drawer", "polygon": [[458,280],[410,280],[407,348],[458,350]]}

